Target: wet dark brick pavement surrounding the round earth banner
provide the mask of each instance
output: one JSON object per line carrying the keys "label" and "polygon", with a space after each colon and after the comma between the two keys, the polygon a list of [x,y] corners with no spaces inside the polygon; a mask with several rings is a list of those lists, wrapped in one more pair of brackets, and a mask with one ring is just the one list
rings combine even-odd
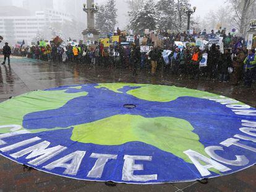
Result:
{"label": "wet dark brick pavement surrounding the round earth banner", "polygon": [[[0,57],[0,62],[3,58]],[[244,88],[230,83],[206,80],[188,80],[164,73],[152,77],[149,70],[140,70],[134,77],[129,69],[106,69],[83,64],[58,64],[12,57],[11,65],[1,65],[0,102],[11,96],[33,90],[45,90],[61,85],[83,83],[149,83],[156,85],[176,85],[196,90],[228,96],[256,107],[256,86]],[[24,169],[22,165],[0,157],[1,191],[256,191],[256,166],[232,175],[199,182],[169,183],[163,185],[107,186],[104,182],[84,182],[59,177],[37,170]]]}

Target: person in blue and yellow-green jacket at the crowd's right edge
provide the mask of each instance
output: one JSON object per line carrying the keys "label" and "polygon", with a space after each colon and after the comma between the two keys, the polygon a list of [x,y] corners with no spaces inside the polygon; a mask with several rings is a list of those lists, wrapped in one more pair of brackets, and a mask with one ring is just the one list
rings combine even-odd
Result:
{"label": "person in blue and yellow-green jacket at the crowd's right edge", "polygon": [[256,57],[255,50],[248,51],[248,56],[244,60],[244,86],[250,88],[252,80],[256,75]]}

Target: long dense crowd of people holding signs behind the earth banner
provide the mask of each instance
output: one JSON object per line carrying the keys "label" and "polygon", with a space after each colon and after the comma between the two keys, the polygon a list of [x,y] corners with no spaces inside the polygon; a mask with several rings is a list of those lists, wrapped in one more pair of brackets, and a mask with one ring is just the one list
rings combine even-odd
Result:
{"label": "long dense crowd of people holding signs behind the earth banner", "polygon": [[[93,44],[56,45],[48,43],[46,46],[27,46],[26,48],[12,48],[12,54],[27,56],[32,59],[53,62],[76,62],[81,64],[102,65],[104,67],[119,67],[133,70],[137,75],[139,69],[150,68],[155,75],[159,69],[177,77],[205,78],[220,82],[230,81],[250,87],[256,80],[255,48],[247,50],[244,38],[226,34],[226,30],[203,32],[187,35],[184,33],[151,32],[145,35],[133,35],[132,41],[127,42],[126,33],[119,29],[113,36],[119,40],[111,42],[111,35],[106,45],[102,40]],[[130,35],[131,36],[131,35]],[[105,38],[105,39],[106,39]],[[197,45],[197,38],[208,42]],[[221,42],[209,43],[220,39]],[[256,40],[254,40],[256,41]],[[176,42],[183,42],[182,46]],[[148,46],[142,51],[140,46]],[[163,52],[168,51],[168,57]],[[203,54],[207,54],[207,64],[200,65]],[[162,68],[161,68],[162,67]]]}

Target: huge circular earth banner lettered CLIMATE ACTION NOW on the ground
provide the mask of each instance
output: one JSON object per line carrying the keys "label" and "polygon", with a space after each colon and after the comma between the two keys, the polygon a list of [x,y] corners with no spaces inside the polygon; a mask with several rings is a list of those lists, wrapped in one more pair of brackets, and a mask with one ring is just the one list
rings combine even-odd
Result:
{"label": "huge circular earth banner lettered CLIMATE ACTION NOW on the ground", "polygon": [[186,182],[256,162],[256,110],[176,86],[61,86],[0,104],[0,154],[79,180]]}

